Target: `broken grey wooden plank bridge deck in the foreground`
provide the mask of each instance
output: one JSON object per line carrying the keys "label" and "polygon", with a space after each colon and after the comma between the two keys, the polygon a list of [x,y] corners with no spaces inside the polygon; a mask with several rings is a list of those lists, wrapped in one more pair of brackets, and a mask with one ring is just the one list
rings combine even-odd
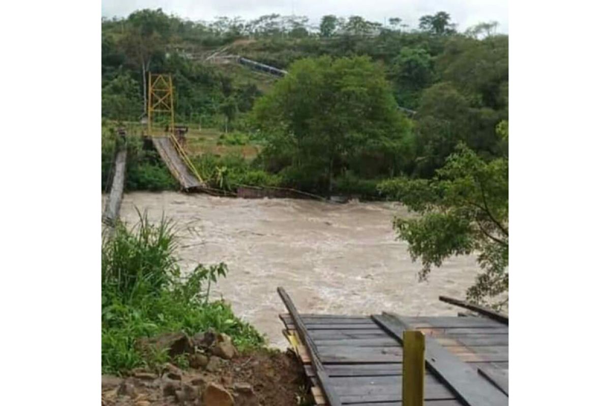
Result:
{"label": "broken grey wooden plank bridge deck in the foreground", "polygon": [[[402,345],[376,321],[388,315],[300,315],[307,334],[317,347],[321,365],[328,376],[327,385],[339,397],[339,404],[358,406],[397,406],[402,397]],[[317,405],[328,405],[320,387],[311,352],[300,343],[296,323],[289,314],[280,315],[285,335],[296,343]],[[446,349],[451,358],[467,368],[472,387],[479,385],[483,395],[475,393],[467,402],[445,382],[438,371],[426,368],[425,404],[458,406],[475,404],[508,405],[508,326],[483,317],[403,317],[393,318],[409,329],[417,329]],[[406,327],[404,329],[407,329]],[[426,349],[426,353],[428,349]],[[441,351],[442,352],[442,351]],[[459,368],[458,368],[459,369]],[[456,374],[456,371],[451,371]],[[474,376],[472,378],[472,376]],[[471,382],[467,382],[471,383]],[[505,392],[504,392],[505,391]],[[487,397],[486,397],[487,396]],[[489,399],[488,399],[489,397]],[[471,396],[472,398],[472,396]]]}

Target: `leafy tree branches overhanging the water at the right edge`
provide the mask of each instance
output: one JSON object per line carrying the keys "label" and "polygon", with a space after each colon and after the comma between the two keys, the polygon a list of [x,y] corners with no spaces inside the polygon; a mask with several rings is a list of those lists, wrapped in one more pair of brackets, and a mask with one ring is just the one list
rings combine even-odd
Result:
{"label": "leafy tree branches overhanging the water at the right edge", "polygon": [[[508,122],[497,131],[508,141]],[[411,259],[422,261],[420,279],[450,256],[476,254],[483,272],[467,299],[491,304],[508,290],[508,156],[484,161],[459,144],[432,180],[390,180],[381,190],[420,215],[393,223]],[[508,296],[492,305],[506,303]]]}

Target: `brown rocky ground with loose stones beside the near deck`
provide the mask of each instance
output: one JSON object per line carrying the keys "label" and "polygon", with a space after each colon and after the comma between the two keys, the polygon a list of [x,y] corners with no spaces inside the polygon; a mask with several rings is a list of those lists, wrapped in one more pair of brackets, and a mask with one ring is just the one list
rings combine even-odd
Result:
{"label": "brown rocky ground with loose stones beside the near deck", "polygon": [[238,354],[226,335],[167,334],[141,345],[185,354],[190,368],[171,363],[157,371],[134,369],[125,377],[102,376],[102,406],[306,405],[303,367],[291,351]]}

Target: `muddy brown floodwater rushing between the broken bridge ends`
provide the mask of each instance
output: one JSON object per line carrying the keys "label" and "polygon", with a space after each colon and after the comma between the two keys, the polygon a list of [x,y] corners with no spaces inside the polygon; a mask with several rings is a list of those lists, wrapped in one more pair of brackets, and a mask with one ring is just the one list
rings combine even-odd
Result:
{"label": "muddy brown floodwater rushing between the broken bridge ends", "polygon": [[225,262],[228,278],[213,296],[229,301],[270,345],[282,348],[288,343],[278,318],[285,312],[278,286],[301,313],[456,315],[458,308],[439,295],[464,297],[478,272],[474,257],[451,257],[418,282],[421,264],[411,261],[392,229],[395,215],[409,215],[397,203],[134,192],[124,195],[121,218],[137,222],[136,208],[154,221],[163,213],[174,220],[183,271]]}

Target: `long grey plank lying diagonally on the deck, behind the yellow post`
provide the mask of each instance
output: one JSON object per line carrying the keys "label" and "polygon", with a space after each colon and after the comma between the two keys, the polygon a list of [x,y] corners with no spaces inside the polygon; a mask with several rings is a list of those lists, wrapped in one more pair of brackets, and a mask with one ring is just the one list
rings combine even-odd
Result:
{"label": "long grey plank lying diagonally on the deck, behind the yellow post", "polygon": [[[468,319],[464,317],[462,319]],[[400,339],[405,330],[412,327],[404,324],[391,313],[373,316],[380,326],[395,338]],[[508,397],[481,377],[458,357],[443,348],[432,337],[426,337],[426,365],[442,382],[468,406],[506,406]]]}

